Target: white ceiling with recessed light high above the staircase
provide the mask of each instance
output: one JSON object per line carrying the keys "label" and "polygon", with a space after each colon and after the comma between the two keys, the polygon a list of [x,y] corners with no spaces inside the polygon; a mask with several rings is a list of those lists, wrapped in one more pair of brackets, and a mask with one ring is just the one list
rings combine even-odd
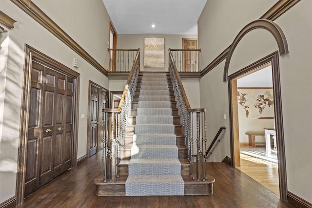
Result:
{"label": "white ceiling with recessed light high above the staircase", "polygon": [[117,34],[173,35],[197,34],[197,20],[206,1],[103,0]]}

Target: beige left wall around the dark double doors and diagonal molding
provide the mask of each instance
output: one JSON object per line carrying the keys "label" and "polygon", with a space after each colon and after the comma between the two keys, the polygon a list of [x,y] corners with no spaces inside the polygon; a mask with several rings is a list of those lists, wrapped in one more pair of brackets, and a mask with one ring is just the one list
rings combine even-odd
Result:
{"label": "beige left wall around the dark double doors and diagonal molding", "polygon": [[[65,0],[34,0],[43,12],[55,20],[62,29],[74,38],[78,44],[105,68],[109,34],[109,16],[101,0],[77,0],[75,3]],[[80,73],[79,121],[78,121],[78,158],[86,154],[87,119],[80,114],[88,113],[88,82],[92,80],[109,88],[109,80],[69,47],[55,38],[34,19],[29,17],[10,0],[1,0],[1,11],[17,22],[10,30],[6,66],[1,67],[0,97],[4,97],[2,116],[2,134],[0,145],[0,203],[15,196],[17,158],[20,136],[20,107],[22,100],[24,45],[28,44],[40,52],[52,57],[65,66]],[[92,11],[90,15],[84,11]],[[101,25],[102,28],[98,28]],[[1,34],[2,37],[3,34]],[[2,45],[1,38],[1,45]],[[106,43],[107,44],[107,43]],[[1,46],[2,47],[2,46]],[[105,49],[106,48],[106,49]],[[5,47],[2,48],[3,50]],[[1,55],[2,54],[1,49]],[[80,67],[76,70],[73,58],[77,57]],[[2,57],[1,57],[2,60]],[[2,66],[2,63],[1,63]],[[6,73],[3,73],[5,72]],[[5,82],[3,82],[5,81]],[[1,120],[0,119],[0,120]]]}

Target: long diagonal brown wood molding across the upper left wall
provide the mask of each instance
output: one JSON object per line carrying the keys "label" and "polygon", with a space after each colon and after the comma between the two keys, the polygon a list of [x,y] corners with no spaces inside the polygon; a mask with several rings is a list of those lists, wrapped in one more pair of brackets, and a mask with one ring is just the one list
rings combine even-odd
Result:
{"label": "long diagonal brown wood molding across the upper left wall", "polygon": [[35,19],[40,25],[51,32],[55,37],[59,38],[63,43],[70,47],[80,57],[89,62],[99,72],[107,76],[107,70],[104,69],[93,57],[90,56],[73,38],[63,31],[58,24],[50,19],[39,7],[31,0],[11,0],[20,7],[31,18]]}

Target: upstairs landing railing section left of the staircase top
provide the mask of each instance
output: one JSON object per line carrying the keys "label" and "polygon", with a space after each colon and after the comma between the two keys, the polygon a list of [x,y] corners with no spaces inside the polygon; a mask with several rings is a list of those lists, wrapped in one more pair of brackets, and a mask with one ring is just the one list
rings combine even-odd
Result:
{"label": "upstairs landing railing section left of the staircase top", "polygon": [[107,49],[110,72],[130,72],[139,49]]}

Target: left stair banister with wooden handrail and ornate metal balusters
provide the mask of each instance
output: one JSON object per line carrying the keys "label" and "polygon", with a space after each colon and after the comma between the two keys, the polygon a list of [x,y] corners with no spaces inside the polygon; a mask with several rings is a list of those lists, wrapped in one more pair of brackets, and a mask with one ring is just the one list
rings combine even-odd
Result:
{"label": "left stair banister with wooden handrail and ornate metal balusters", "polygon": [[[113,157],[115,158],[115,180],[118,178],[118,165],[121,162],[121,149],[124,147],[124,137],[126,136],[126,125],[131,111],[131,103],[135,95],[137,77],[140,71],[140,49],[137,50],[132,69],[130,71],[125,89],[121,96],[118,108],[103,109],[105,125],[102,138],[102,181],[113,178]],[[114,126],[113,117],[116,118]],[[113,129],[116,130],[114,135]],[[113,148],[115,144],[115,148]],[[113,155],[114,154],[114,155]]]}

